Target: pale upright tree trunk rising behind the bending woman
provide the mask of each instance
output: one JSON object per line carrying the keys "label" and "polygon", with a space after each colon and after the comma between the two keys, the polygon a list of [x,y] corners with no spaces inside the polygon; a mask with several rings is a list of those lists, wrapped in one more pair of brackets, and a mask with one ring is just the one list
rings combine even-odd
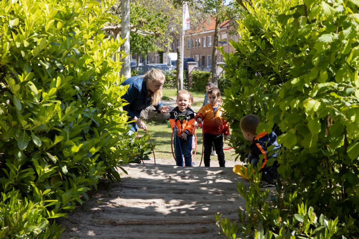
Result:
{"label": "pale upright tree trunk rising behind the bending woman", "polygon": [[121,51],[125,52],[126,57],[122,58],[121,75],[125,78],[131,77],[130,66],[130,0],[121,0],[121,38],[125,42],[121,45]]}

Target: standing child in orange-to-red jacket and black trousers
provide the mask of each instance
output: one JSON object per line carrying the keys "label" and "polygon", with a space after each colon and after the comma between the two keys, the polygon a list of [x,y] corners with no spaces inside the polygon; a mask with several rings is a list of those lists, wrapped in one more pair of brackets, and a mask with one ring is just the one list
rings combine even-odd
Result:
{"label": "standing child in orange-to-red jacket and black trousers", "polygon": [[214,148],[218,154],[219,167],[225,167],[223,134],[225,139],[229,137],[229,126],[222,117],[223,108],[218,104],[221,99],[221,92],[217,87],[212,87],[207,93],[209,104],[202,106],[195,116],[197,123],[203,122],[204,166],[210,167],[210,155],[212,143],[214,143]]}

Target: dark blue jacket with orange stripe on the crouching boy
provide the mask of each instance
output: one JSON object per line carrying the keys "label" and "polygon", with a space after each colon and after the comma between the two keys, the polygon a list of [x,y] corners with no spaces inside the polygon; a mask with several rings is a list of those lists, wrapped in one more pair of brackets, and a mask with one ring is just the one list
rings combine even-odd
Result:
{"label": "dark blue jacket with orange stripe on the crouching boy", "polygon": [[[274,131],[270,132],[269,134],[267,134],[266,132],[262,132],[262,133],[258,134],[252,141],[252,144],[250,147],[251,154],[255,158],[259,158],[259,156],[261,154],[265,154],[264,163],[262,164],[261,168],[265,167],[268,159],[270,159],[271,157],[274,157],[274,158],[277,157],[278,152],[275,152],[271,156],[268,156],[267,148],[270,145],[274,145],[274,148],[272,150],[280,148],[280,144],[278,144],[278,142],[277,142],[277,135],[274,133]],[[275,161],[274,164],[277,165],[278,162]]]}

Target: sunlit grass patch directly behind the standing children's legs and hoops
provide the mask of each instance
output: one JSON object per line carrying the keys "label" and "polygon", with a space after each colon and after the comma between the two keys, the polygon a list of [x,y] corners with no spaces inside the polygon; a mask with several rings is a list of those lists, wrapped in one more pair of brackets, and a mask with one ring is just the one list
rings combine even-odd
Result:
{"label": "sunlit grass patch directly behind the standing children's legs and hoops", "polygon": [[[203,103],[203,102],[202,102]],[[173,159],[172,150],[171,150],[171,128],[167,128],[167,124],[146,124],[147,131],[151,135],[152,144],[156,144],[154,151],[156,158],[158,159]],[[138,135],[142,136],[146,132],[144,130],[139,130]],[[195,157],[195,162],[197,166],[199,166],[199,162],[201,161],[202,154],[202,130],[197,129],[197,154]],[[224,143],[224,148],[229,148],[227,142]],[[224,150],[225,160],[233,160],[236,158],[236,155],[232,155],[234,150]],[[217,156],[211,156],[211,162],[213,162],[213,166],[218,166]],[[202,162],[203,163],[203,162]],[[173,159],[173,164],[175,164]]]}

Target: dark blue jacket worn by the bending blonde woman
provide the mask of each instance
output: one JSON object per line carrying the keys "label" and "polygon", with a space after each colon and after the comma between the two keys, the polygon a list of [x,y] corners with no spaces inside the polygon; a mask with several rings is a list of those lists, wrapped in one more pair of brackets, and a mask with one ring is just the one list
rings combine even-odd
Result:
{"label": "dark blue jacket worn by the bending blonde woman", "polygon": [[[150,98],[147,100],[146,81],[144,81],[143,76],[132,76],[123,81],[121,85],[129,85],[129,89],[127,89],[126,94],[121,96],[121,99],[129,102],[128,105],[123,106],[123,110],[127,111],[127,116],[130,117],[128,121],[131,121],[135,118],[135,116],[140,118],[141,111],[152,105],[152,99]],[[162,102],[160,102],[158,105],[154,106],[158,113],[160,113],[158,108],[162,105]],[[136,122],[132,122],[130,124],[131,130],[136,132]]]}

